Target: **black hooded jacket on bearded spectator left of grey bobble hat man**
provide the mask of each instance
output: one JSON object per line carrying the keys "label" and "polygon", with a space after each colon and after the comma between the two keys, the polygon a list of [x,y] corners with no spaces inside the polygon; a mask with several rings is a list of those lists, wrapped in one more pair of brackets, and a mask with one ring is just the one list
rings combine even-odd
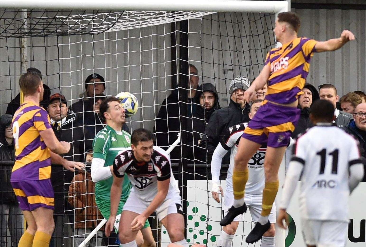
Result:
{"label": "black hooded jacket on bearded spectator left of grey bobble hat man", "polygon": [[199,106],[195,114],[193,114],[193,130],[188,136],[188,147],[193,147],[193,149],[191,149],[190,151],[194,152],[194,156],[193,153],[188,153],[188,158],[190,157],[190,159],[195,159],[198,160],[198,162],[204,163],[206,160],[205,149],[198,146],[198,141],[201,140],[202,135],[205,134],[205,128],[208,125],[212,113],[214,113],[214,111],[220,109],[221,107],[219,103],[219,95],[217,94],[216,87],[213,84],[203,83],[197,88],[197,90],[199,90],[199,93],[197,95],[198,100],[203,92],[212,92],[215,95],[215,101],[213,107],[210,110],[205,110],[204,107]]}

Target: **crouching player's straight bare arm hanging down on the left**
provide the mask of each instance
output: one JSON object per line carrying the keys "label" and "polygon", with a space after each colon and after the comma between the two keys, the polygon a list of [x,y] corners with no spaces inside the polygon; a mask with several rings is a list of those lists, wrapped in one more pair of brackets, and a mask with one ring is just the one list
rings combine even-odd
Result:
{"label": "crouching player's straight bare arm hanging down on the left", "polygon": [[113,225],[116,220],[117,209],[122,194],[123,176],[113,176],[113,183],[111,186],[111,214],[109,215],[108,221],[105,224],[105,235],[109,237],[111,231],[113,231]]}

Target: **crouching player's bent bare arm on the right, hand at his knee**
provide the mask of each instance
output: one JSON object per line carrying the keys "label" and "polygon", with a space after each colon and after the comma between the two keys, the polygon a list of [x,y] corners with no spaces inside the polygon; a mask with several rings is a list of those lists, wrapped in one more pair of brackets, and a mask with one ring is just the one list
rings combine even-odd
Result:
{"label": "crouching player's bent bare arm on the right, hand at his knee", "polygon": [[158,193],[155,195],[154,199],[151,201],[146,210],[142,214],[136,216],[136,218],[134,218],[134,220],[131,222],[132,231],[138,231],[141,229],[145,224],[147,217],[149,217],[158,208],[158,206],[161,205],[165,197],[167,197],[169,183],[170,178],[165,179],[164,181],[157,181]]}

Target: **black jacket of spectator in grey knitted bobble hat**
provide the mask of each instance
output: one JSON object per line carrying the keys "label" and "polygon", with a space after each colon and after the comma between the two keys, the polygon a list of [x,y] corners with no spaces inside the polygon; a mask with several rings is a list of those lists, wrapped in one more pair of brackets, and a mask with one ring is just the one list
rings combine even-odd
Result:
{"label": "black jacket of spectator in grey knitted bobble hat", "polygon": [[[206,126],[206,135],[202,136],[200,147],[207,150],[207,162],[211,163],[213,151],[219,144],[226,129],[238,123],[249,122],[250,106],[246,104],[243,109],[240,105],[230,100],[229,106],[221,108],[212,113],[208,125]],[[230,153],[223,158],[223,164],[230,163]]]}

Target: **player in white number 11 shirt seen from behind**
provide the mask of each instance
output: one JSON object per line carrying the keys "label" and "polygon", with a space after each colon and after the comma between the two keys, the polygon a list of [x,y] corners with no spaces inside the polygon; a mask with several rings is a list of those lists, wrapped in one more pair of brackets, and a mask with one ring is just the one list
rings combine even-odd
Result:
{"label": "player in white number 11 shirt seen from behind", "polygon": [[358,142],[334,126],[334,106],[326,100],[311,105],[314,127],[294,145],[277,223],[288,221],[286,208],[300,180],[300,217],[308,247],[344,247],[348,229],[348,198],[363,178]]}

